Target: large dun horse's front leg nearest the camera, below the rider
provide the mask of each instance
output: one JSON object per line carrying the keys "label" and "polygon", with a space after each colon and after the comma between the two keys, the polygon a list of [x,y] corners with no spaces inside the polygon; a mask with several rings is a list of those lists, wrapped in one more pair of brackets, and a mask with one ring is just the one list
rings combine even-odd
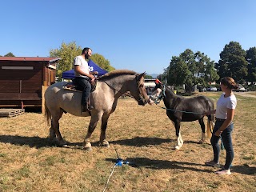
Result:
{"label": "large dun horse's front leg nearest the camera, below the rider", "polygon": [[91,134],[93,134],[100,117],[101,117],[101,115],[97,114],[97,115],[92,115],[92,117],[90,118],[90,124],[88,127],[86,138],[83,142],[83,146],[84,146],[85,150],[92,150],[91,144],[90,144],[90,137],[91,137]]}

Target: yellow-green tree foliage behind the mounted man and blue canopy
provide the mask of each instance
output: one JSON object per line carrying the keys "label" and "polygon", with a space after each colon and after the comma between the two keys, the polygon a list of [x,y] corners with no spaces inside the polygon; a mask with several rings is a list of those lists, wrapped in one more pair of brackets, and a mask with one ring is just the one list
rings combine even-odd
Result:
{"label": "yellow-green tree foliage behind the mounted man and blue canopy", "polygon": [[[77,46],[75,42],[65,43],[59,49],[50,50],[50,57],[62,58],[58,61],[57,76],[62,77],[62,72],[71,70],[73,67],[74,58],[82,54],[82,47]],[[102,69],[111,71],[114,67],[110,66],[110,61],[106,60],[101,54],[92,54],[91,59]]]}

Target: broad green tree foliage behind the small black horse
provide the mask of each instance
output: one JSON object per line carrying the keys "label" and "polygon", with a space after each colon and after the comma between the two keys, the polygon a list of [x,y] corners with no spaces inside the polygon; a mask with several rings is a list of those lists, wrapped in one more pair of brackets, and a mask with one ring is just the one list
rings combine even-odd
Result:
{"label": "broad green tree foliage behind the small black horse", "polygon": [[214,61],[210,61],[207,55],[190,49],[185,50],[178,57],[174,56],[170,66],[166,69],[166,78],[171,86],[182,86],[191,91],[198,84],[206,85],[207,82],[218,80],[218,74],[214,70]]}

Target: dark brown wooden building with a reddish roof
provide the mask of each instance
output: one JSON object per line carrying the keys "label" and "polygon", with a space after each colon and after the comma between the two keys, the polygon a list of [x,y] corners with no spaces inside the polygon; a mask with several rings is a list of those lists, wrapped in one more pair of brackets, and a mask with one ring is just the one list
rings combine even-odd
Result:
{"label": "dark brown wooden building with a reddish roof", "polygon": [[0,107],[42,106],[60,58],[0,57]]}

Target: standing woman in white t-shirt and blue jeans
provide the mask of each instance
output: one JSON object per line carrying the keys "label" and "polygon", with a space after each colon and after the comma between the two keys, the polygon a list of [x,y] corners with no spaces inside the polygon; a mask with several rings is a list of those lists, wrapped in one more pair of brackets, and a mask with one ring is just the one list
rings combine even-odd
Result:
{"label": "standing woman in white t-shirt and blue jeans", "polygon": [[224,169],[216,171],[216,174],[231,174],[230,166],[234,158],[234,150],[231,138],[231,133],[234,129],[234,124],[232,121],[234,118],[234,109],[237,106],[237,98],[235,98],[232,90],[237,90],[238,84],[234,82],[233,78],[222,78],[221,89],[224,93],[218,99],[216,110],[209,110],[206,112],[206,115],[215,114],[216,118],[214,131],[210,139],[210,143],[214,150],[214,159],[210,162],[206,162],[206,165],[220,167],[220,146],[218,142],[222,137],[222,142],[226,149],[226,162]]}

